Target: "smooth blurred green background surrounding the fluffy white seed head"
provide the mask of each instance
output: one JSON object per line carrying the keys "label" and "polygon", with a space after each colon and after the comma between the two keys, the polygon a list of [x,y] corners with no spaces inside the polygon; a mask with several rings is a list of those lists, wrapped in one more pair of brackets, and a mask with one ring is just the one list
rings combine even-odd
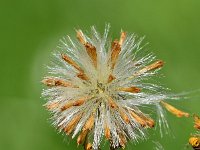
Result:
{"label": "smooth blurred green background surrounding the fluffy white seed head", "polygon": [[[150,51],[166,62],[161,81],[172,91],[200,88],[199,0],[0,0],[1,150],[82,148],[50,125],[40,80],[60,38],[91,25],[103,31],[106,22],[115,37],[121,29],[146,35]],[[194,95],[174,105],[200,114],[200,94]],[[168,120],[174,138],[154,130],[150,140],[127,149],[154,149],[152,140],[166,150],[187,149],[192,119],[169,114]]]}

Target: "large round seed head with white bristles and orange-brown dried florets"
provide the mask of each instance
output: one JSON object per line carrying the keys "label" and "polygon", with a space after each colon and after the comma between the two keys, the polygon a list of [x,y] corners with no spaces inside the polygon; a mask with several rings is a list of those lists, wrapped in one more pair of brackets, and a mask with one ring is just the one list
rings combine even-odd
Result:
{"label": "large round seed head with white bristles and orange-brown dried florets", "polygon": [[150,83],[164,62],[143,54],[143,38],[122,31],[112,42],[109,25],[102,36],[91,30],[91,36],[77,30],[77,40],[61,40],[49,76],[42,80],[45,106],[60,131],[72,138],[79,134],[77,144],[86,150],[99,149],[103,136],[117,149],[128,140],[145,139],[146,129],[155,126],[146,106],[158,112],[164,128],[163,107],[178,117],[189,116],[164,101],[174,98],[166,88]]}

